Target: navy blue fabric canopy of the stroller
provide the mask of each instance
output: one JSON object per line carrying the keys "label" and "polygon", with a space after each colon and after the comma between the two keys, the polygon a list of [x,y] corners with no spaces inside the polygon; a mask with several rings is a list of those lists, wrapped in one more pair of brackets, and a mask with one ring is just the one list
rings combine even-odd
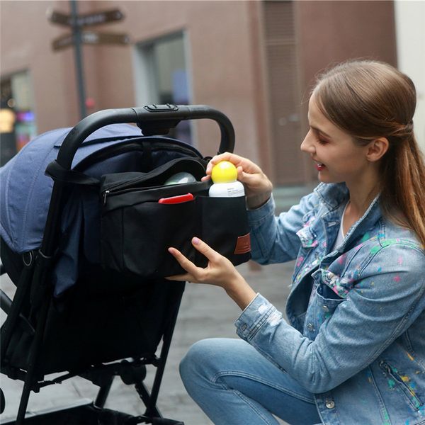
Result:
{"label": "navy blue fabric canopy of the stroller", "polygon": [[[45,169],[71,128],[60,128],[35,137],[0,169],[0,235],[17,254],[40,247],[53,181]],[[98,150],[142,136],[128,124],[107,125],[86,138],[72,166]]]}

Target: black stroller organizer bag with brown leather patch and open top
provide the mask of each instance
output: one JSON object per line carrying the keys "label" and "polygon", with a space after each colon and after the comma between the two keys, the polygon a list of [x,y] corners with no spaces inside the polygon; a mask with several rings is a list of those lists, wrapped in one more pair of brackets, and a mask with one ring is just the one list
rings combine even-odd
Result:
{"label": "black stroller organizer bag with brown leather patch and open top", "polygon": [[[164,186],[180,171],[196,182]],[[208,259],[191,244],[199,237],[234,265],[250,259],[245,198],[210,198],[210,181],[195,158],[174,159],[148,173],[106,174],[101,179],[101,263],[130,276],[158,278],[186,273],[169,251],[179,249],[197,266]],[[191,193],[193,200],[162,204],[160,198]]]}

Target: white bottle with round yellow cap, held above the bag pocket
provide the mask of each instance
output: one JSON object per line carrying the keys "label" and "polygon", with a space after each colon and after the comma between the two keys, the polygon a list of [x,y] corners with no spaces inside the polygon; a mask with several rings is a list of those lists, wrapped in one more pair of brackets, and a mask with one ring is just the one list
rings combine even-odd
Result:
{"label": "white bottle with round yellow cap, held above the bag pocket", "polygon": [[214,198],[245,196],[244,185],[237,181],[237,169],[229,161],[221,161],[212,167],[212,186],[208,195]]}

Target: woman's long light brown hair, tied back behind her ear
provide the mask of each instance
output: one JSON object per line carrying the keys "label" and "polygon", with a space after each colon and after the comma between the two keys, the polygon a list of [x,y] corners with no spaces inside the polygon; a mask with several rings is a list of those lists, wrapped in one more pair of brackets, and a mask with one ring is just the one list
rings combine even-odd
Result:
{"label": "woman's long light brown hair, tied back behind her ear", "polygon": [[412,80],[390,64],[353,60],[324,72],[313,91],[322,113],[358,144],[387,138],[380,163],[382,212],[425,246],[425,164],[413,130]]}

